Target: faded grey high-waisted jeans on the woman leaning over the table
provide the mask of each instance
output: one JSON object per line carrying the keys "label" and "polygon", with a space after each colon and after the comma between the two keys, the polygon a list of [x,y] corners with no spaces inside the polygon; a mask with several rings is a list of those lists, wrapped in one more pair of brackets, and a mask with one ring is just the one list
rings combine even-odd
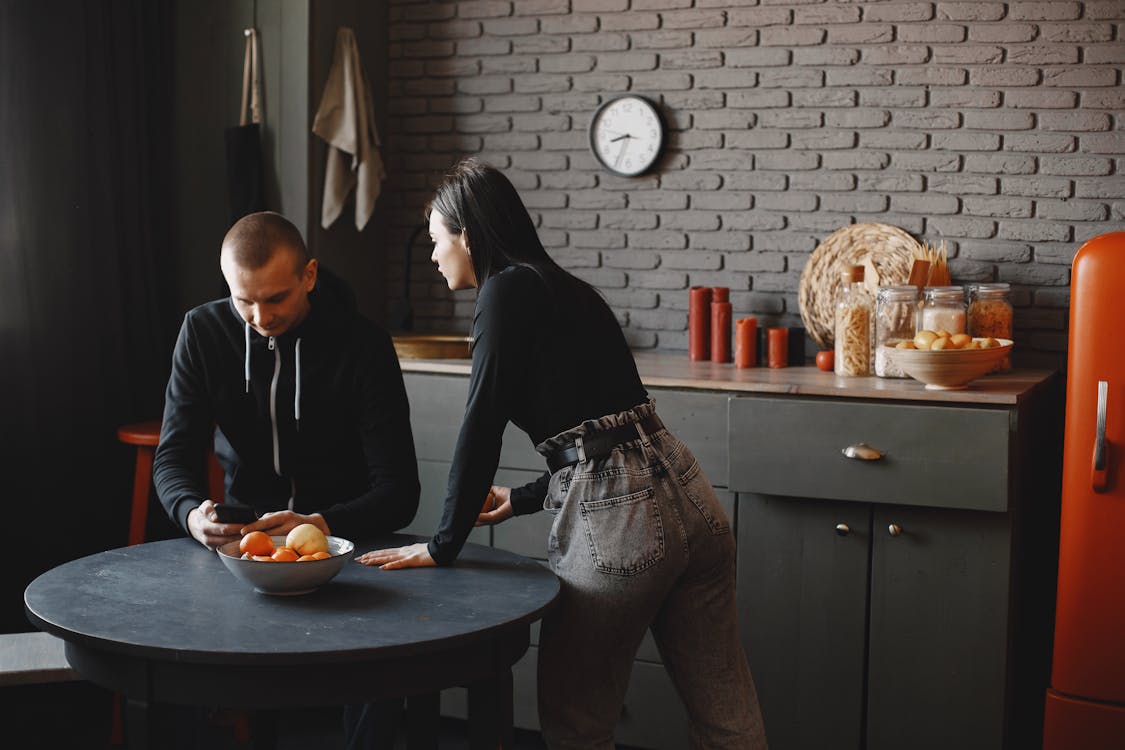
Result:
{"label": "faded grey high-waisted jeans on the woman leaning over the table", "polygon": [[[639,422],[652,401],[587,421],[537,450]],[[539,717],[552,750],[612,749],[645,631],[691,722],[691,747],[766,747],[738,636],[730,522],[691,451],[667,430],[557,471],[543,507],[561,595],[542,623]]]}

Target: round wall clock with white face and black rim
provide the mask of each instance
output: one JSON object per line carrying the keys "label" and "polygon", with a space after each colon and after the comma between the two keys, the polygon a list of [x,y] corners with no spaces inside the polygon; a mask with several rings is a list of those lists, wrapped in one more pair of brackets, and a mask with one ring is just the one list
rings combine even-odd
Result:
{"label": "round wall clock with white face and black rim", "polygon": [[664,124],[647,99],[618,97],[598,107],[590,123],[590,146],[608,170],[632,177],[652,165],[664,145]]}

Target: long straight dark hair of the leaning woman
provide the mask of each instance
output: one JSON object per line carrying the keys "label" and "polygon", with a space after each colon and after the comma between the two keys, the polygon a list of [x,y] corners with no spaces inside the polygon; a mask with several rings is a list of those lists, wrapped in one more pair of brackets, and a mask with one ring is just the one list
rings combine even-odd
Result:
{"label": "long straight dark hair of the leaning woman", "polygon": [[465,232],[477,283],[510,265],[525,265],[548,284],[594,290],[556,263],[536,233],[520,193],[494,166],[465,159],[438,186],[426,218],[438,211],[451,234]]}

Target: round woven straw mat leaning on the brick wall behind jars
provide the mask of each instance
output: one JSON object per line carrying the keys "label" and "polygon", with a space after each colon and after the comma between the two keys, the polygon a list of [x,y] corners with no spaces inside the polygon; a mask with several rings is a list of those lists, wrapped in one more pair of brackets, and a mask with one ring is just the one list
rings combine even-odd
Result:
{"label": "round woven straw mat leaning on the brick wall behind jars", "polygon": [[865,266],[863,281],[874,298],[879,287],[907,282],[920,249],[906,231],[878,222],[852,224],[828,235],[806,262],[798,289],[801,319],[812,340],[822,349],[834,343],[836,290],[846,266]]}

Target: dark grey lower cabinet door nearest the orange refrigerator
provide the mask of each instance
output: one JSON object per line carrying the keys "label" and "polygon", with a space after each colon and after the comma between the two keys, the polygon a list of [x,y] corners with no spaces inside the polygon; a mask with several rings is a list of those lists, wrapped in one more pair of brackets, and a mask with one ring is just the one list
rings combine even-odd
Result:
{"label": "dark grey lower cabinet door nearest the orange refrigerator", "polygon": [[1008,523],[1002,513],[875,508],[870,750],[1004,747]]}

